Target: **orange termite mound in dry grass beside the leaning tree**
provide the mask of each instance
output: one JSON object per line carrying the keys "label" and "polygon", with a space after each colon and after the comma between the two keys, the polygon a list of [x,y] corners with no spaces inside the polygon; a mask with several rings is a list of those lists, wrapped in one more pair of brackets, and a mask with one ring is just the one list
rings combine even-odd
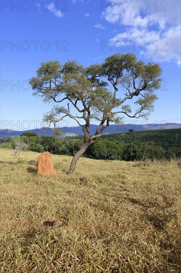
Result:
{"label": "orange termite mound in dry grass beside the leaning tree", "polygon": [[38,157],[37,174],[56,174],[53,167],[53,159],[49,152],[43,152]]}

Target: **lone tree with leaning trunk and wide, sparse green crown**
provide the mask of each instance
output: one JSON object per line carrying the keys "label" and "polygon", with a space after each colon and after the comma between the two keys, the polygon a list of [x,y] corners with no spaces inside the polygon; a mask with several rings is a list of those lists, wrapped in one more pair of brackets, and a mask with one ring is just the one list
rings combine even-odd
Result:
{"label": "lone tree with leaning trunk and wide, sparse green crown", "polygon": [[[158,64],[144,64],[134,54],[114,54],[102,65],[84,68],[76,61],[61,65],[59,61],[41,63],[37,76],[30,79],[33,95],[41,96],[45,102],[67,103],[54,106],[44,115],[44,121],[56,124],[69,117],[82,126],[84,143],[74,155],[70,173],[75,170],[77,160],[97,137],[102,136],[110,122],[121,124],[126,115],[130,118],[147,117],[153,111],[157,96],[153,91],[160,88],[162,70]],[[137,110],[125,104],[132,98]],[[66,105],[66,104],[64,104]],[[98,121],[97,129],[90,136],[90,121]]]}

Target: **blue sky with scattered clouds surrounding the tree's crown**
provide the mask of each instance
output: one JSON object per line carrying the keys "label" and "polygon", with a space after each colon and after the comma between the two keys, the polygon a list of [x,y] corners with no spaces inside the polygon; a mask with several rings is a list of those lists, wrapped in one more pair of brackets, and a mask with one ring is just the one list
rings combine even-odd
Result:
{"label": "blue sky with scattered clouds surrounding the tree's crown", "polygon": [[[181,1],[1,0],[1,129],[42,127],[52,105],[32,96],[28,79],[57,58],[83,66],[133,52],[163,69],[149,123],[181,123]],[[128,122],[143,122],[125,118]],[[95,123],[95,122],[92,122]],[[77,126],[66,120],[64,126]]]}

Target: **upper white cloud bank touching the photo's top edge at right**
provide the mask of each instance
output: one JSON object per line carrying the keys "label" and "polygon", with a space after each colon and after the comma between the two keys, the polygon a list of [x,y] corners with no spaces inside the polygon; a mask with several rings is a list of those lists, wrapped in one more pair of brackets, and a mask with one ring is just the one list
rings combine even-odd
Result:
{"label": "upper white cloud bank touching the photo's top edge at right", "polygon": [[[102,12],[105,19],[110,23],[120,22],[123,25],[139,25],[142,27],[145,27],[147,23],[156,23],[162,27],[167,22],[176,25],[181,23],[181,1],[151,2],[127,0],[125,2],[127,6],[123,5],[123,1],[112,0],[109,2],[105,11]],[[145,4],[147,5],[147,10],[143,12]]]}

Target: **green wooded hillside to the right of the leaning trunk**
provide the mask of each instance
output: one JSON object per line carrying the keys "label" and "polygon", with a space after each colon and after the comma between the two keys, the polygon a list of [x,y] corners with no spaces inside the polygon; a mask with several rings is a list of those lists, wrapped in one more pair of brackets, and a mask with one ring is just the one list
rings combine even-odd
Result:
{"label": "green wooded hillside to the right of the leaning trunk", "polygon": [[[81,139],[83,136],[70,137]],[[143,160],[181,158],[181,129],[103,135],[86,151],[95,159]]]}

